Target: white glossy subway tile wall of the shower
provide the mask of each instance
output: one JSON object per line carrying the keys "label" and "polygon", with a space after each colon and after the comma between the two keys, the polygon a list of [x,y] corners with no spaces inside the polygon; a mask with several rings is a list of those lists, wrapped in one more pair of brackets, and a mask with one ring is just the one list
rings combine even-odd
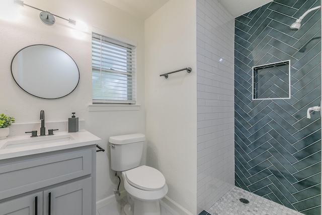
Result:
{"label": "white glossy subway tile wall of the shower", "polygon": [[234,19],[197,0],[198,212],[234,185]]}

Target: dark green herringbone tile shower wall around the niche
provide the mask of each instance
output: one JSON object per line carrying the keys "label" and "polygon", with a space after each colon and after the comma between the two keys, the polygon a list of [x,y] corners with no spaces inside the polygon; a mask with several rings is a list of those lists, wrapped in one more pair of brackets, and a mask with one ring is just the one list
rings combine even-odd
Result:
{"label": "dark green herringbone tile shower wall around the niche", "polygon": [[[320,214],[320,0],[278,0],[235,19],[235,185]],[[291,61],[291,99],[252,100],[252,66]],[[278,85],[278,83],[273,82]]]}

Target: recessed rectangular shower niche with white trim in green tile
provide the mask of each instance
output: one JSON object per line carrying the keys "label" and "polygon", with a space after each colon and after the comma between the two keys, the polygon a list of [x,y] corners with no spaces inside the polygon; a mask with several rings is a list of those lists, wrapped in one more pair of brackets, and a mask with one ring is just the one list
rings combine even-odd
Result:
{"label": "recessed rectangular shower niche with white trim in green tile", "polygon": [[290,99],[290,60],[253,66],[253,100]]}

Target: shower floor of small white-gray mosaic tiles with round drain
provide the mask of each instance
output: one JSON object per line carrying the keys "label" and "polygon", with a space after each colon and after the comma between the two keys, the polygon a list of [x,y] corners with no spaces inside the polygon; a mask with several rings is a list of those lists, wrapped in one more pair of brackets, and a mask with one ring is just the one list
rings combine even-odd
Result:
{"label": "shower floor of small white-gray mosaic tiles with round drain", "polygon": [[[239,201],[240,198],[249,200],[248,204]],[[264,197],[250,193],[239,187],[233,187],[222,196],[209,211],[199,215],[303,215]]]}

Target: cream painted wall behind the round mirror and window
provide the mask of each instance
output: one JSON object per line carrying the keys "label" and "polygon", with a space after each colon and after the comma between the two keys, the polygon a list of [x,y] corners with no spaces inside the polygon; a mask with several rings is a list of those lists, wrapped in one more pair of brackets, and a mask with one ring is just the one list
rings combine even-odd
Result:
{"label": "cream painted wall behind the round mirror and window", "polygon": [[[46,122],[67,121],[71,112],[85,120],[86,129],[102,138],[107,149],[109,136],[145,132],[144,114],[144,22],[101,0],[26,0],[25,4],[58,16],[83,21],[86,32],[74,30],[67,21],[56,18],[53,26],[44,25],[39,11],[0,1],[0,113],[14,116],[16,123],[39,122],[45,110]],[[137,42],[137,101],[135,111],[89,112],[92,103],[92,26]],[[77,88],[61,99],[33,97],[20,89],[11,76],[10,64],[17,51],[32,44],[48,44],[64,50],[76,62],[80,80]],[[118,179],[110,171],[109,150],[97,154],[97,200],[113,194]]]}

